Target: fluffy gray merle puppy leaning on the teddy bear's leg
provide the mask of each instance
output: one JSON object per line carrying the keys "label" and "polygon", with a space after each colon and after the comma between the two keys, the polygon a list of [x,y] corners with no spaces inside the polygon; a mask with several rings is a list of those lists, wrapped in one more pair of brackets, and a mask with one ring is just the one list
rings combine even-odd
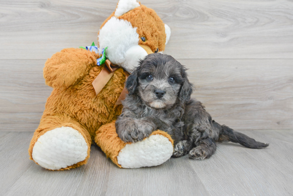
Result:
{"label": "fluffy gray merle puppy leaning on the teddy bear's leg", "polygon": [[115,123],[124,142],[141,141],[159,129],[174,140],[173,157],[188,153],[193,159],[209,158],[216,151],[215,142],[230,141],[248,148],[268,146],[213,121],[201,102],[190,99],[193,85],[186,69],[170,55],[146,56],[125,86],[129,95]]}

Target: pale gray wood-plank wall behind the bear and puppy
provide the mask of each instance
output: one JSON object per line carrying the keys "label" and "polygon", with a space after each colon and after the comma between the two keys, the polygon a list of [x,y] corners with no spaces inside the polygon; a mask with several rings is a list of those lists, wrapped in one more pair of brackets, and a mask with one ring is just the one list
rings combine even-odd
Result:
{"label": "pale gray wood-plank wall behind the bear and puppy", "polygon": [[[202,101],[235,130],[293,128],[293,2],[141,0],[170,26],[165,54],[189,68]],[[34,131],[52,89],[42,69],[62,48],[97,42],[117,0],[0,1],[0,131]]]}

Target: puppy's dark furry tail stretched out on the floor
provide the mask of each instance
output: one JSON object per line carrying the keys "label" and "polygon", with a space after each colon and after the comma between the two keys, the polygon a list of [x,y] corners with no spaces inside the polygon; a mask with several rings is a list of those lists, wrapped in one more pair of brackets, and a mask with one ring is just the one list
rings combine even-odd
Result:
{"label": "puppy's dark furry tail stretched out on the floor", "polygon": [[213,129],[219,132],[219,138],[216,140],[217,142],[234,142],[239,143],[247,148],[257,149],[265,148],[268,146],[268,144],[257,142],[247,135],[234,131],[233,129],[225,125],[220,125],[215,121],[213,121]]}

